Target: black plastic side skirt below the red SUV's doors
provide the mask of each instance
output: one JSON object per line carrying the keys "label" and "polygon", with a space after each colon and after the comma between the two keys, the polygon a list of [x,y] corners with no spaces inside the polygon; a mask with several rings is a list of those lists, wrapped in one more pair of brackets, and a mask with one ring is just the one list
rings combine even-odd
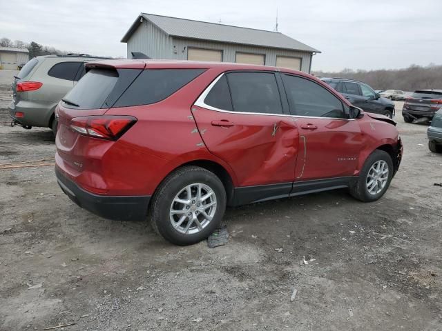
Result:
{"label": "black plastic side skirt below the red SUV's doors", "polygon": [[229,206],[235,207],[238,205],[246,205],[247,203],[296,197],[302,194],[336,190],[338,188],[348,188],[357,178],[358,177],[349,176],[234,188],[233,197],[229,201]]}

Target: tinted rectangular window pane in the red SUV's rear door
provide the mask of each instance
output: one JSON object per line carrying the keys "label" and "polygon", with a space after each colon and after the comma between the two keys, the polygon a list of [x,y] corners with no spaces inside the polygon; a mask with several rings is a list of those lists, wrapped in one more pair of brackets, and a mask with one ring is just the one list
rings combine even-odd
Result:
{"label": "tinted rectangular window pane in the red SUV's rear door", "polygon": [[282,114],[281,99],[273,73],[231,72],[227,74],[233,110]]}

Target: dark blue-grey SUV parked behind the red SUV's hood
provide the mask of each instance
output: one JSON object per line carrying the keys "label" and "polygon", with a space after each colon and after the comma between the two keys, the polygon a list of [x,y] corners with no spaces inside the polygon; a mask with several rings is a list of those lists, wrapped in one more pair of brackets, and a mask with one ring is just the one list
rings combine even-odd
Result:
{"label": "dark blue-grey SUV parked behind the red SUV's hood", "polygon": [[366,83],[345,78],[321,78],[321,80],[343,94],[353,106],[362,108],[366,112],[383,114],[390,119],[394,117],[394,102],[381,97]]}

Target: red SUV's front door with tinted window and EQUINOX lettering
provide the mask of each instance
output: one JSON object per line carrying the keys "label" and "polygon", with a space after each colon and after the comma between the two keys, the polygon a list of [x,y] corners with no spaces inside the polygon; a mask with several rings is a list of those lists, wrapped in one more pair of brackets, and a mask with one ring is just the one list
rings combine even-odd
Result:
{"label": "red SUV's front door with tinted window and EQUINOX lettering", "polygon": [[282,80],[300,137],[296,181],[352,176],[363,141],[358,121],[319,83],[291,74]]}

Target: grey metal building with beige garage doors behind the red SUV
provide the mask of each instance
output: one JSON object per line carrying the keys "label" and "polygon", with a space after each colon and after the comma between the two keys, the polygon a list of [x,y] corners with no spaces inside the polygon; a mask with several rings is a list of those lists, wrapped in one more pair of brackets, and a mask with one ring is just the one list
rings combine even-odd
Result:
{"label": "grey metal building with beige garage doors behind the red SUV", "polygon": [[124,35],[127,57],[224,61],[279,66],[310,72],[320,52],[280,32],[141,13]]}

